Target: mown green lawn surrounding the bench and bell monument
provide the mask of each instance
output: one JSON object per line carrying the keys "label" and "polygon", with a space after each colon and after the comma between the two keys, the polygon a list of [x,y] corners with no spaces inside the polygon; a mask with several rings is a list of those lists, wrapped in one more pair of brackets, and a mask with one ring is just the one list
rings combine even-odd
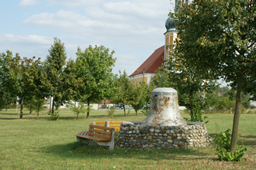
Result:
{"label": "mown green lawn surrounding the bench and bell monument", "polygon": [[[92,121],[142,121],[132,110],[123,117],[116,110],[109,118],[106,110],[92,110],[90,117],[61,110],[61,119],[50,121],[50,116],[25,111],[19,119],[16,110],[0,111],[0,169],[255,169],[256,168],[256,114],[240,115],[239,144],[249,147],[244,162],[220,162],[215,148],[189,150],[147,150],[115,148],[76,141],[78,131],[88,130]],[[210,135],[232,128],[233,114],[207,114]],[[189,114],[182,112],[182,117]]]}

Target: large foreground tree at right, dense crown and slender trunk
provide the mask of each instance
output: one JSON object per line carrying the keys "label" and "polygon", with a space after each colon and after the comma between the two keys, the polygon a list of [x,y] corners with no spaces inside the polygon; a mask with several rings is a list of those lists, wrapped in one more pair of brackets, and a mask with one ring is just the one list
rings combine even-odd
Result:
{"label": "large foreground tree at right, dense crown and slender trunk", "polygon": [[179,22],[175,55],[195,65],[196,73],[206,79],[221,77],[236,87],[230,144],[230,151],[234,152],[243,84],[255,82],[252,70],[256,67],[256,2],[195,0],[182,5],[175,17]]}

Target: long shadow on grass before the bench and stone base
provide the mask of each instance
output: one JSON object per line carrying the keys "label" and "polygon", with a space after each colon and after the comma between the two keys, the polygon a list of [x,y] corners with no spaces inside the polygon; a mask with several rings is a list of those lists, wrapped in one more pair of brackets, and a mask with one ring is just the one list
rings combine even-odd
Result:
{"label": "long shadow on grass before the bench and stone base", "polygon": [[198,160],[204,159],[206,158],[206,155],[209,155],[201,151],[200,149],[139,150],[133,148],[115,148],[113,151],[108,151],[106,146],[99,146],[96,144],[96,142],[92,147],[89,147],[86,141],[75,141],[67,145],[52,145],[42,149],[43,152],[61,156],[63,158],[137,158],[152,161],[161,161],[164,159]]}

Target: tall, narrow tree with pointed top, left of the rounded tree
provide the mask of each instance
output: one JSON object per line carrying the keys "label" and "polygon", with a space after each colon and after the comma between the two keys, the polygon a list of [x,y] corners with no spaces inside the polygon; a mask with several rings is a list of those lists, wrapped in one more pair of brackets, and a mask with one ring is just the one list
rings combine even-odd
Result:
{"label": "tall, narrow tree with pointed top, left of the rounded tree", "polygon": [[60,39],[54,38],[54,44],[48,49],[49,55],[44,62],[44,68],[40,74],[41,83],[47,93],[45,96],[53,97],[52,114],[54,114],[54,105],[59,107],[64,103],[64,66],[66,64],[67,54],[64,43]]}

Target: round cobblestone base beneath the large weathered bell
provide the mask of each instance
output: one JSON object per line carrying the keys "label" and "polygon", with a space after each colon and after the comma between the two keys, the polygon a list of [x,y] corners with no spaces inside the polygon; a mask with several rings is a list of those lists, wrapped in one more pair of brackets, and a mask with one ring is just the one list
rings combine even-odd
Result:
{"label": "round cobblestone base beneath the large weathered bell", "polygon": [[185,126],[150,126],[141,121],[123,121],[115,142],[117,148],[185,149],[213,145],[202,122],[188,121]]}

